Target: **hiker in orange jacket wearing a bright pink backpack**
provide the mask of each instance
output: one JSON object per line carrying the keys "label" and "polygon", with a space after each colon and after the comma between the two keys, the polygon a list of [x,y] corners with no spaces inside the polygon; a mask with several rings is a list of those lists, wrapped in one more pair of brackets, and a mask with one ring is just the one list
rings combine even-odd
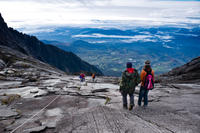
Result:
{"label": "hiker in orange jacket wearing a bright pink backpack", "polygon": [[151,68],[150,61],[145,61],[145,65],[140,74],[141,87],[138,98],[138,105],[141,106],[142,98],[144,98],[144,107],[148,105],[149,90],[154,88],[154,71]]}

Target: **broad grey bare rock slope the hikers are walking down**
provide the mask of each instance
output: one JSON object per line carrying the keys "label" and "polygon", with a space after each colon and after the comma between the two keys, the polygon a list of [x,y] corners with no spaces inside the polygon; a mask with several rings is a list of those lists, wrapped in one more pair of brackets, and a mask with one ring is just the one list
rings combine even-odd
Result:
{"label": "broad grey bare rock slope the hikers are walking down", "polygon": [[[29,56],[0,47],[2,133],[199,133],[200,85],[157,83],[149,106],[122,108],[119,78],[69,76]],[[196,64],[198,62],[194,62]],[[189,70],[188,70],[189,71]]]}

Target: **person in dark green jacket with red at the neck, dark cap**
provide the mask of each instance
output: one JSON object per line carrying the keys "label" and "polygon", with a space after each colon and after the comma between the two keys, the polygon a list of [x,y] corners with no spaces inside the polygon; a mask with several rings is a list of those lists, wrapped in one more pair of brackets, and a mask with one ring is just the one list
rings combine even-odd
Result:
{"label": "person in dark green jacket with red at the neck, dark cap", "polygon": [[134,92],[135,87],[140,83],[140,77],[136,69],[132,68],[132,63],[126,64],[127,69],[122,74],[122,81],[120,83],[120,92],[123,99],[123,108],[127,109],[127,95],[130,96],[129,110],[134,106]]}

